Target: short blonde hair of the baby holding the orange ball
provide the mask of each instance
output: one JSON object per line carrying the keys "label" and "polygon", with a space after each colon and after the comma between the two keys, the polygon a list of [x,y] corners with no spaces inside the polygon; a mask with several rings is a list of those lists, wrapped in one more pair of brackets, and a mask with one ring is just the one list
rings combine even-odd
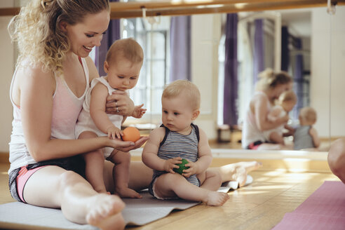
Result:
{"label": "short blonde hair of the baby holding the orange ball", "polygon": [[126,60],[133,64],[142,62],[144,60],[142,47],[132,38],[114,41],[107,52],[105,60],[111,65],[111,63],[122,58],[126,58]]}

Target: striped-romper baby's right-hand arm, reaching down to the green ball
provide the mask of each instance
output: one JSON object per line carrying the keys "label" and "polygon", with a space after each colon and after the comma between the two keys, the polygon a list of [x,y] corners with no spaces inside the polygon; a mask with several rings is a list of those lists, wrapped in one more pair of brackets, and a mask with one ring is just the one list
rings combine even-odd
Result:
{"label": "striped-romper baby's right-hand arm, reaching down to the green ball", "polygon": [[184,177],[190,177],[191,175],[204,172],[212,163],[212,153],[210,146],[208,145],[208,137],[201,128],[199,128],[199,136],[198,161],[191,162],[187,160],[189,163],[187,163],[185,166],[188,166],[189,169],[183,170],[184,173],[182,175]]}

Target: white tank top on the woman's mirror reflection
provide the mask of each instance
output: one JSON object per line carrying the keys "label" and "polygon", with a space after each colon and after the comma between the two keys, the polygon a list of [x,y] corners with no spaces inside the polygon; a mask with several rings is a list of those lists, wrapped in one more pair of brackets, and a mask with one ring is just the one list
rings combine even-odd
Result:
{"label": "white tank top on the woman's mirror reflection", "polygon": [[[264,95],[267,97],[266,93],[262,91],[257,91],[253,97],[257,97],[257,95]],[[267,111],[271,110],[271,104],[269,102],[269,98],[267,97]],[[257,123],[255,121],[255,114],[252,113],[250,109],[250,104],[248,105],[248,109],[245,112],[245,119],[243,122],[243,130],[242,130],[242,147],[246,149],[249,144],[256,142],[256,141],[266,141],[266,137],[262,131],[259,130],[257,127]]]}

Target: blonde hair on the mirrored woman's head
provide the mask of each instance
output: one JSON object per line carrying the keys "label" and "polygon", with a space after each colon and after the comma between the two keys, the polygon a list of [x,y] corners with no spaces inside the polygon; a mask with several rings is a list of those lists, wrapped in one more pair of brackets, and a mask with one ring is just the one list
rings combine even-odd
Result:
{"label": "blonde hair on the mirrored woman's head", "polygon": [[287,72],[273,72],[272,69],[268,68],[259,73],[259,81],[257,82],[256,89],[267,90],[290,82],[292,82],[292,77]]}

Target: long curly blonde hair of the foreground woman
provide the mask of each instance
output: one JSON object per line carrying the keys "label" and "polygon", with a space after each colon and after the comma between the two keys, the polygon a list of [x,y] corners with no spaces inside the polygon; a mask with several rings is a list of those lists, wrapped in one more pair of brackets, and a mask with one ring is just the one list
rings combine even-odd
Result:
{"label": "long curly blonde hair of the foreground woman", "polygon": [[60,22],[69,25],[83,22],[88,14],[109,11],[109,0],[32,0],[20,9],[8,25],[13,41],[18,42],[19,57],[31,65],[42,65],[43,70],[62,73],[62,62],[69,51],[67,34]]}

